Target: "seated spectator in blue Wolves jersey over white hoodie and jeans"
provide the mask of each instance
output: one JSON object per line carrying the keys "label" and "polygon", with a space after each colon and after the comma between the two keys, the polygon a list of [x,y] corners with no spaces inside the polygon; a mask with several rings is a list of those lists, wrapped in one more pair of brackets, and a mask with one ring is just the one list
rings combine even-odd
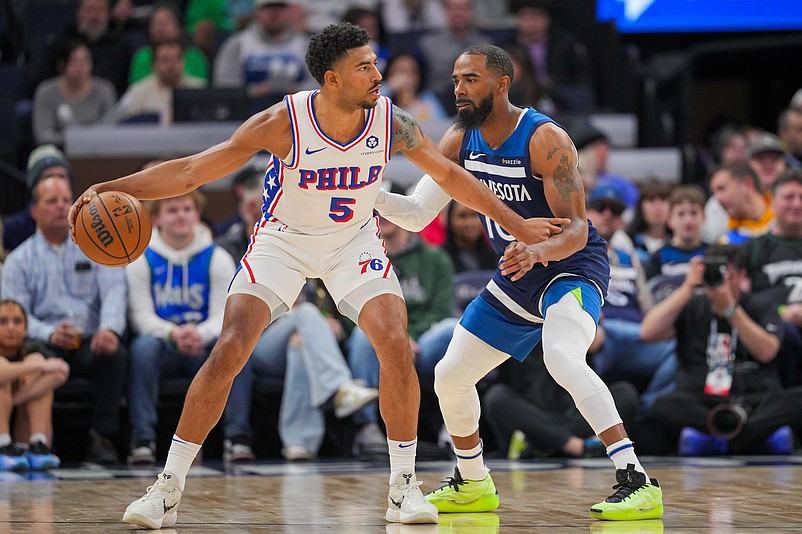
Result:
{"label": "seated spectator in blue Wolves jersey over white hoodie and jeans", "polygon": [[[156,461],[156,406],[164,378],[191,378],[223,326],[226,292],[236,270],[231,255],[200,223],[199,191],[153,202],[157,231],[125,270],[131,342],[129,414],[132,464]],[[252,460],[250,364],[234,379],[224,414],[225,459]]]}

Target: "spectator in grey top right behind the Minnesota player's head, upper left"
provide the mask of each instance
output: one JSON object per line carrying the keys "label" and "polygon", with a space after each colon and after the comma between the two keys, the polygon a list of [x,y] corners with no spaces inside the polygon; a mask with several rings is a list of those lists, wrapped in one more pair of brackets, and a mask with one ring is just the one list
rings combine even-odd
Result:
{"label": "spectator in grey top right behind the Minnesota player's head, upper left", "polygon": [[451,73],[457,56],[470,46],[490,41],[487,35],[476,29],[473,3],[474,0],[442,0],[445,28],[425,33],[418,41],[426,70],[425,87],[433,94],[441,95],[444,102],[454,101]]}

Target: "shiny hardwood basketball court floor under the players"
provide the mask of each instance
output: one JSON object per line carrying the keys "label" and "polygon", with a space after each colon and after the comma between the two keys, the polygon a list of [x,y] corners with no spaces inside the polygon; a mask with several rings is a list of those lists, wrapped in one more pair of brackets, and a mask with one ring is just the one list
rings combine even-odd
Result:
{"label": "shiny hardwood basketball court floor under the players", "polygon": [[[439,525],[384,520],[387,468],[360,462],[193,467],[170,533],[716,533],[802,532],[802,457],[643,459],[663,486],[662,520],[600,522],[587,513],[612,490],[606,459],[490,461],[501,495],[496,513],[441,514]],[[424,491],[453,470],[419,465]],[[158,469],[82,466],[46,474],[3,473],[0,532],[115,533],[128,503]]]}

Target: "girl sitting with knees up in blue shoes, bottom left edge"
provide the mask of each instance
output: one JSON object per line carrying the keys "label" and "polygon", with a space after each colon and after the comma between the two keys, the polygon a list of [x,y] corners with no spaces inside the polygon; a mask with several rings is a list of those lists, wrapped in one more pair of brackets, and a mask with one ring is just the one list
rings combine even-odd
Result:
{"label": "girl sitting with knees up in blue shoes, bottom left edge", "polygon": [[[53,439],[53,391],[70,367],[41,343],[27,340],[28,318],[15,300],[0,300],[0,470],[51,469],[61,460]],[[16,409],[12,441],[11,414]]]}

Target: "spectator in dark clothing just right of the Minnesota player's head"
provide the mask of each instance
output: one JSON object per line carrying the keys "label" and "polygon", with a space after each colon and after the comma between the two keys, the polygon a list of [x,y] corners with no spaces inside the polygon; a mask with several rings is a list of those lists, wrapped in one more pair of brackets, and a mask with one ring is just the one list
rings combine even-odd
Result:
{"label": "spectator in dark clothing just right of the Minnesota player's head", "polygon": [[588,51],[573,35],[552,25],[549,0],[513,0],[516,41],[529,52],[535,77],[557,108],[590,111],[595,104]]}

